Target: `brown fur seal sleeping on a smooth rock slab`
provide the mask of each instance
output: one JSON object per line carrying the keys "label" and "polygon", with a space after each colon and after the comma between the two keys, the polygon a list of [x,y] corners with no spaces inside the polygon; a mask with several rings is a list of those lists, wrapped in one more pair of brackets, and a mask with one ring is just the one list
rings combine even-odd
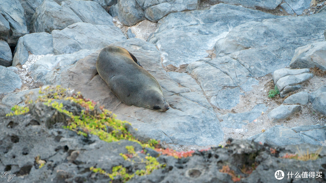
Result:
{"label": "brown fur seal sleeping on a smooth rock slab", "polygon": [[123,103],[155,111],[169,109],[157,80],[125,48],[104,47],[97,57],[96,69]]}

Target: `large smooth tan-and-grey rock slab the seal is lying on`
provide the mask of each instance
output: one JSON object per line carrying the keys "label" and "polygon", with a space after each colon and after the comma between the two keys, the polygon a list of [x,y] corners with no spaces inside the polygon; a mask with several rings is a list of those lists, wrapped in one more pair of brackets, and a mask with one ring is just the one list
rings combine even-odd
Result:
{"label": "large smooth tan-and-grey rock slab the seal is lying on", "polygon": [[[43,57],[33,66],[31,75],[47,84],[62,85],[81,91],[83,96],[99,101],[117,115],[118,119],[130,122],[133,127],[151,138],[179,145],[210,145],[223,140],[223,132],[215,112],[204,97],[199,86],[189,86],[196,81],[189,75],[188,82],[175,82],[162,68],[160,53],[153,44],[138,38],[114,43],[130,51],[161,84],[163,95],[170,103],[166,112],[157,112],[135,106],[127,106],[111,93],[107,84],[97,74],[98,51],[90,51],[88,56],[80,53]],[[73,56],[75,54],[75,56]],[[76,56],[79,56],[76,59]],[[62,62],[74,57],[76,62]],[[45,61],[48,60],[48,61]],[[57,65],[60,65],[59,67]],[[44,69],[38,70],[38,68]],[[48,69],[45,69],[47,67]],[[43,73],[42,73],[43,72]],[[39,74],[42,73],[42,74]],[[184,87],[189,86],[189,88]],[[191,91],[190,88],[198,88]]]}

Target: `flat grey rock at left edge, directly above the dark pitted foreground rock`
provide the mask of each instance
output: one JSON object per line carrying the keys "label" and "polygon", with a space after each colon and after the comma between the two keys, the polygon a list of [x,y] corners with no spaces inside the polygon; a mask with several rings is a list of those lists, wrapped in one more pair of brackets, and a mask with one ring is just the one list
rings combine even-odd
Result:
{"label": "flat grey rock at left edge, directly above the dark pitted foreground rock", "polygon": [[14,105],[23,106],[25,105],[25,103],[22,100],[22,97],[30,92],[34,92],[34,91],[38,92],[38,90],[39,88],[35,88],[35,89],[24,90],[20,92],[9,93],[4,98],[2,98],[1,103],[9,107],[12,107]]}

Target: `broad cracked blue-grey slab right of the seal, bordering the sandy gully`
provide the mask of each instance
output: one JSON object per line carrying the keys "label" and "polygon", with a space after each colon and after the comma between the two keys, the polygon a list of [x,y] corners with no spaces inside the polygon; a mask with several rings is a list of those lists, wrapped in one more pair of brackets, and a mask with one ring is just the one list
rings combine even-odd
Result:
{"label": "broad cracked blue-grey slab right of the seal, bordering the sandy gully", "polygon": [[258,84],[243,65],[230,57],[192,62],[186,70],[198,81],[209,102],[222,109],[239,103],[241,89],[250,91]]}

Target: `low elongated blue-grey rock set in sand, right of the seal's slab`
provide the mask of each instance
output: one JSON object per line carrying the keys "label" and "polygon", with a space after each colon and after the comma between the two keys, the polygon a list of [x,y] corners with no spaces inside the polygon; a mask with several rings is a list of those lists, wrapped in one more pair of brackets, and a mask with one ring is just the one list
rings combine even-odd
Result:
{"label": "low elongated blue-grey rock set in sand, right of the seal's slab", "polygon": [[257,119],[261,112],[265,112],[268,109],[264,104],[256,105],[251,111],[242,113],[228,113],[221,115],[219,118],[222,127],[228,128],[243,128],[243,125],[252,123]]}

